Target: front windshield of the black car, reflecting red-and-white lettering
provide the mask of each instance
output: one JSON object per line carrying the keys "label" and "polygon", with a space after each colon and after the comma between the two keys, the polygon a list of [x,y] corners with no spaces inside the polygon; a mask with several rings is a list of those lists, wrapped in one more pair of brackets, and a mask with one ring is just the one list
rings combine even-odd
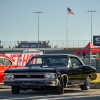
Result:
{"label": "front windshield of the black car, reflecting red-and-white lettering", "polygon": [[46,57],[33,57],[26,64],[26,67],[37,67],[37,66],[66,66],[68,64],[68,57],[59,56],[46,56]]}

